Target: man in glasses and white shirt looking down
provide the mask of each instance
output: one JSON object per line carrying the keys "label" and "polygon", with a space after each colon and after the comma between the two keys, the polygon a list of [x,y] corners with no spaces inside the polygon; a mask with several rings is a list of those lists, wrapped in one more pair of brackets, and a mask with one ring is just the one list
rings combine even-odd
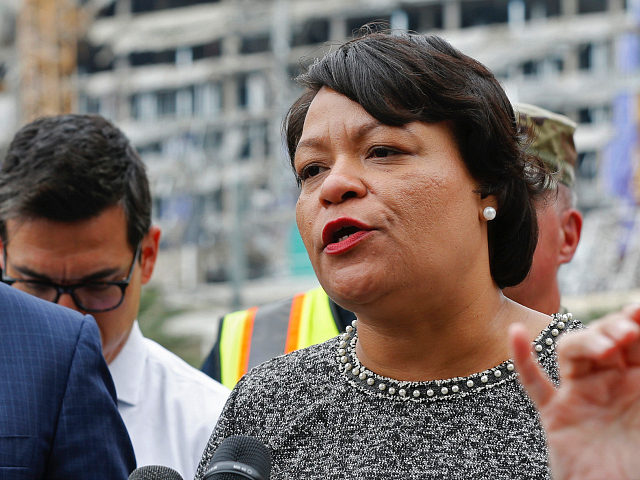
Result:
{"label": "man in glasses and white shirt looking down", "polygon": [[228,390],[140,332],[160,230],[124,134],[92,115],[23,127],[0,169],[0,240],[3,282],[95,317],[138,465],[192,478]]}

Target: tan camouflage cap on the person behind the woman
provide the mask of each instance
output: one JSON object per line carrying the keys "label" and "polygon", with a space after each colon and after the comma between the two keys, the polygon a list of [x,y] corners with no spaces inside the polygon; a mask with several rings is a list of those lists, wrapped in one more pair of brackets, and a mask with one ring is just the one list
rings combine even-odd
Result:
{"label": "tan camouflage cap on the person behind the woman", "polygon": [[[578,154],[573,143],[576,124],[564,115],[526,103],[515,103],[518,123],[532,128],[531,149],[544,162],[553,178],[572,187]],[[524,123],[523,123],[524,122]]]}

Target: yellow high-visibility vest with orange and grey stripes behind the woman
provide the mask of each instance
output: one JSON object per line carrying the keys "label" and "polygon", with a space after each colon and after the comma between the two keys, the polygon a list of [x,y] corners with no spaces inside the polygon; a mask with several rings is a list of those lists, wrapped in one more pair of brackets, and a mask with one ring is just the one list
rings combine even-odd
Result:
{"label": "yellow high-visibility vest with orange and grey stripes behind the woman", "polygon": [[259,363],[339,333],[329,297],[322,288],[296,295],[293,300],[230,313],[221,328],[220,376],[221,383],[229,388]]}

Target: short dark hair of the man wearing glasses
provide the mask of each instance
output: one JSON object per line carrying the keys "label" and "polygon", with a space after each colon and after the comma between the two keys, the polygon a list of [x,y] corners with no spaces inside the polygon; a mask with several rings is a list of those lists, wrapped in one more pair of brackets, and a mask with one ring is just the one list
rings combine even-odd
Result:
{"label": "short dark hair of the man wearing glasses", "polygon": [[0,235],[9,219],[87,220],[121,205],[135,249],[151,226],[144,164],[99,115],[42,117],[13,137],[0,168]]}

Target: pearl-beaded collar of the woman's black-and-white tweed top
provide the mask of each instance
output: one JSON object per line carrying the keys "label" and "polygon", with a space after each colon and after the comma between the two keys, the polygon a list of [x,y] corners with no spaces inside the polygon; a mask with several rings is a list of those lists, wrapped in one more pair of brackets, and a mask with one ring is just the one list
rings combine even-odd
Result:
{"label": "pearl-beaded collar of the woman's black-and-white tweed top", "polygon": [[[551,316],[551,323],[533,342],[538,360],[554,353],[557,339],[567,329],[572,319],[573,315],[570,313],[556,313]],[[400,381],[383,377],[367,369],[356,356],[355,347],[358,339],[356,325],[357,320],[354,320],[347,326],[346,332],[341,334],[336,359],[348,382],[370,395],[403,401],[428,402],[467,396],[514,380],[518,375],[513,362],[507,360],[468,377],[427,382]]]}

